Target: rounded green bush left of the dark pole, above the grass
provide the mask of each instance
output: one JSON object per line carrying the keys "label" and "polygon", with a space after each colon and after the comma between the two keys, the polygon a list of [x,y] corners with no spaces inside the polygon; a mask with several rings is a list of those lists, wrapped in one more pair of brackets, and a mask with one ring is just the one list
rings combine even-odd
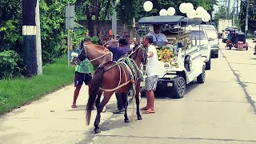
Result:
{"label": "rounded green bush left of the dark pole, above the grass", "polygon": [[22,58],[14,50],[5,50],[0,53],[0,78],[11,78],[20,74],[18,64]]}

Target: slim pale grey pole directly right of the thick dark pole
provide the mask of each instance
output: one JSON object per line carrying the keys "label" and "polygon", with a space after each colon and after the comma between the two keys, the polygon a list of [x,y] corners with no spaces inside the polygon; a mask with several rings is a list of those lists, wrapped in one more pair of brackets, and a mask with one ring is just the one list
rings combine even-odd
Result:
{"label": "slim pale grey pole directly right of the thick dark pole", "polygon": [[39,0],[37,0],[37,6],[35,10],[35,22],[37,26],[36,46],[37,46],[37,62],[38,62],[38,74],[42,74],[42,47],[41,47],[41,28],[40,28],[40,10]]}

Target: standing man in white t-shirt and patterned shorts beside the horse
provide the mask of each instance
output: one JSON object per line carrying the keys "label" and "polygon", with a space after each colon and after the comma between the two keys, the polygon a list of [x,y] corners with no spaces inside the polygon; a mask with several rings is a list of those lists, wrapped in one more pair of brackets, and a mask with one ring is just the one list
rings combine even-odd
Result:
{"label": "standing man in white t-shirt and patterned shorts beside the horse", "polygon": [[146,35],[144,38],[144,46],[148,48],[148,58],[146,66],[147,78],[145,80],[145,90],[147,104],[142,110],[146,110],[144,114],[154,113],[154,90],[156,90],[158,84],[159,68],[158,68],[158,53],[155,47],[152,45],[153,42],[152,35]]}

